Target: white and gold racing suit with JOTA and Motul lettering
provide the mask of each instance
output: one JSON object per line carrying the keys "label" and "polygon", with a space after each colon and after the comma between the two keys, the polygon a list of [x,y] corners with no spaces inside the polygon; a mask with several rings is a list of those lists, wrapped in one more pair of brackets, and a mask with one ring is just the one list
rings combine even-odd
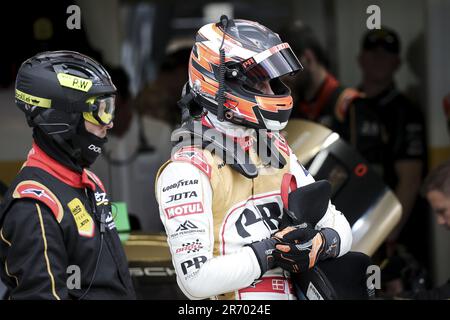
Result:
{"label": "white and gold racing suit with JOTA and Motul lettering", "polygon": [[[249,179],[207,150],[184,147],[163,165],[156,182],[160,217],[167,233],[177,282],[190,299],[296,299],[289,273],[280,268],[261,275],[246,244],[271,237],[283,215],[284,173],[298,187],[314,178],[297,161],[284,139],[277,148],[287,164],[265,167],[253,147],[248,152],[259,175]],[[330,203],[316,229],[334,229],[339,256],[350,250],[352,235],[344,215]]]}

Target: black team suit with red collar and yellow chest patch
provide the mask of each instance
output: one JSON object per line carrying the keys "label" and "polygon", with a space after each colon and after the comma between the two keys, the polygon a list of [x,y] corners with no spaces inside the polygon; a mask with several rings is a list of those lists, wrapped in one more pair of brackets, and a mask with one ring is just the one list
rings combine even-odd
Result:
{"label": "black team suit with red collar and yellow chest patch", "polygon": [[33,144],[0,207],[9,299],[134,299],[102,182]]}

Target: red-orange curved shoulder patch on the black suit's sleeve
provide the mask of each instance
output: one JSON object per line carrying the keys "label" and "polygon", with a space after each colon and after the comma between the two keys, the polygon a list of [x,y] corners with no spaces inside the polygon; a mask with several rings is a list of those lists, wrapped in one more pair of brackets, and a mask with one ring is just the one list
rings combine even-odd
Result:
{"label": "red-orange curved shoulder patch on the black suit's sleeve", "polygon": [[31,198],[44,203],[50,208],[59,223],[64,216],[64,210],[58,198],[46,186],[37,181],[26,180],[19,183],[14,189],[13,198]]}

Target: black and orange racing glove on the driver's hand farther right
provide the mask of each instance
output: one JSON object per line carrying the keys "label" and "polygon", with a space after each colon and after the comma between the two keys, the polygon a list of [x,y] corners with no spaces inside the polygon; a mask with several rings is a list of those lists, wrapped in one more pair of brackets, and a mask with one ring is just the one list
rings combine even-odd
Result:
{"label": "black and orange racing glove on the driver's hand farther right", "polygon": [[278,231],[274,239],[277,241],[271,253],[274,264],[294,273],[305,272],[317,261],[339,254],[339,235],[330,228],[319,231],[303,223]]}

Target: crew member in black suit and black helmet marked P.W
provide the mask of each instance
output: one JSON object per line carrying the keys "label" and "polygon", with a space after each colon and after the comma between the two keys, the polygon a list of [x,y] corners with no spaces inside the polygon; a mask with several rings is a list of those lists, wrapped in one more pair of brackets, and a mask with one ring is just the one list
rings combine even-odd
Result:
{"label": "crew member in black suit and black helmet marked P.W", "polygon": [[102,182],[87,168],[113,126],[116,87],[72,51],[20,67],[16,104],[33,145],[0,208],[0,276],[8,299],[133,299]]}

